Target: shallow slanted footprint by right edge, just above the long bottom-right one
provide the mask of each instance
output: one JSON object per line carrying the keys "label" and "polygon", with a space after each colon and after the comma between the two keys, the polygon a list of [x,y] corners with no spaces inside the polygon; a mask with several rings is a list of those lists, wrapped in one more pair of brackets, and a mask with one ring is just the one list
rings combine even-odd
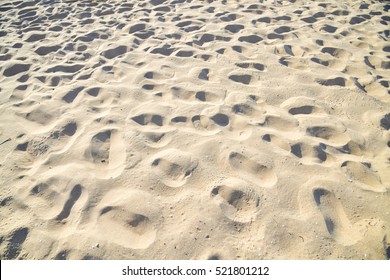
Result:
{"label": "shallow slanted footprint by right edge, just above the long bottom-right one", "polygon": [[370,163],[345,161],[341,167],[350,180],[361,182],[362,188],[374,192],[386,191],[386,188],[382,185],[381,178],[371,169]]}

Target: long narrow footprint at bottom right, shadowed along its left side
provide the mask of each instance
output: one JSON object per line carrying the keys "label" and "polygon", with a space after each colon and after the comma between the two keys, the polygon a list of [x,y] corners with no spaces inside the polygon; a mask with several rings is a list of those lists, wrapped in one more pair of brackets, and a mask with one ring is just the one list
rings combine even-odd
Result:
{"label": "long narrow footprint at bottom right, shadowed along its left side", "polygon": [[327,189],[315,188],[313,198],[324,218],[330,236],[336,242],[345,246],[355,244],[359,239],[359,235],[354,232],[343,206],[334,193]]}

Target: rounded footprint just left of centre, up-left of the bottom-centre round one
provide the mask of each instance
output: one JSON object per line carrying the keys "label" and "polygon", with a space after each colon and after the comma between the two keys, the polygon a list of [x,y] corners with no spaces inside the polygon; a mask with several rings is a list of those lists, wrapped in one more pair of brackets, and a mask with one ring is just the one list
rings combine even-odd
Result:
{"label": "rounded footprint just left of centre, up-left of the bottom-centre round one", "polygon": [[152,172],[165,185],[177,188],[183,186],[198,166],[198,161],[187,152],[168,149],[154,156]]}

